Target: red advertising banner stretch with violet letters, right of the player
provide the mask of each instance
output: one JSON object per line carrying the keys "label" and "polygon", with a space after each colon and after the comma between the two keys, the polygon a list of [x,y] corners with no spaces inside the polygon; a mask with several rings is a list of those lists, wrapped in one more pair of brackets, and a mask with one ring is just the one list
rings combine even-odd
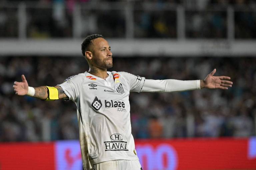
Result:
{"label": "red advertising banner stretch with violet letters, right of the player", "polygon": [[145,170],[256,169],[256,138],[137,140]]}

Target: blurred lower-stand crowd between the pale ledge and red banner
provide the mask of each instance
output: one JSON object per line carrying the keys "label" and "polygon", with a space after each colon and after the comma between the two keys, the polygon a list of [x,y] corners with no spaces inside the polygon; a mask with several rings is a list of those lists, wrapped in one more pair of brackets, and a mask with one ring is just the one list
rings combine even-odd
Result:
{"label": "blurred lower-stand crowd between the pale ledge and red banner", "polygon": [[[147,79],[204,79],[214,68],[228,75],[229,90],[131,93],[131,125],[135,138],[246,137],[255,135],[255,58],[127,57],[114,58],[111,70]],[[0,58],[0,141],[78,139],[72,101],[41,101],[17,96],[13,82],[26,76],[29,86],[55,86],[88,70],[83,57]]]}

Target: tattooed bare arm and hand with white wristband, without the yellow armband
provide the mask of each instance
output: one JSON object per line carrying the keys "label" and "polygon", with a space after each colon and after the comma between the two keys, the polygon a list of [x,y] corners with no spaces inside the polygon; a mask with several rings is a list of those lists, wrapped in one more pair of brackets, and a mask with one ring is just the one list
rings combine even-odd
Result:
{"label": "tattooed bare arm and hand with white wristband, without the yellow armband", "polygon": [[[25,78],[25,76],[22,74],[21,76],[22,82],[14,82],[13,88],[16,92],[16,95],[24,96],[29,95],[41,100],[46,100],[48,97],[47,93],[47,87],[46,86],[40,86],[40,87],[29,87],[28,82]],[[55,86],[58,89],[59,92],[59,99],[67,98],[67,95],[64,93],[62,88],[60,86]],[[33,90],[34,89],[34,90]]]}

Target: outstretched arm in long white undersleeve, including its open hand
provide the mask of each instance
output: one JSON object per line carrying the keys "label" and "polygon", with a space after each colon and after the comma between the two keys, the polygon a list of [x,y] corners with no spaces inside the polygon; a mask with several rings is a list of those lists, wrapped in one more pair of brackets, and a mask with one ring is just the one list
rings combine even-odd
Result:
{"label": "outstretched arm in long white undersleeve, including its open hand", "polygon": [[204,80],[149,80],[145,79],[145,83],[141,92],[177,92],[188,91],[202,88],[210,89],[228,89],[232,87],[233,82],[229,81],[228,76],[213,76],[216,72],[214,69]]}

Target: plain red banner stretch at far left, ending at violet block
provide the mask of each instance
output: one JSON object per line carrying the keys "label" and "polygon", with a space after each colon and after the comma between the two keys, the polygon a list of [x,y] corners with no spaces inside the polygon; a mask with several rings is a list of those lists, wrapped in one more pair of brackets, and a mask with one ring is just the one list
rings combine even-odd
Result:
{"label": "plain red banner stretch at far left, ending at violet block", "polygon": [[0,170],[55,170],[54,143],[0,143]]}

